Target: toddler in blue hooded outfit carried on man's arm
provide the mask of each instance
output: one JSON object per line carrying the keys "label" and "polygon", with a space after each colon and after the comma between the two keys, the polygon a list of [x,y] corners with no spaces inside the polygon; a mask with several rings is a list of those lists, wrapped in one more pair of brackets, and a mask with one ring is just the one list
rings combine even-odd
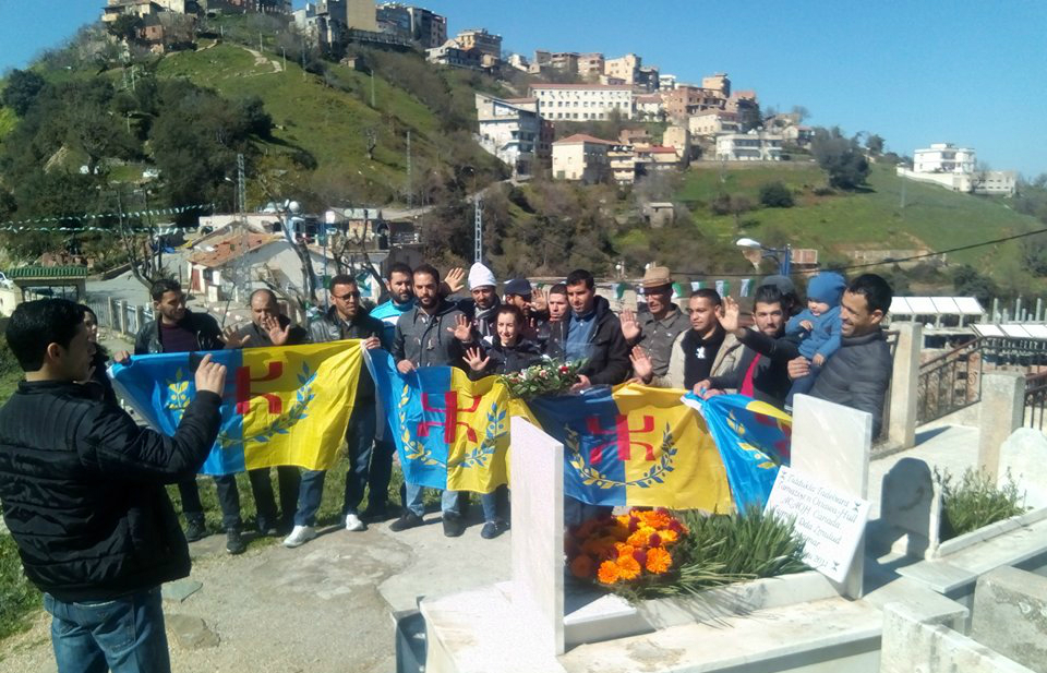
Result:
{"label": "toddler in blue hooded outfit carried on man's arm", "polygon": [[785,336],[798,339],[799,354],[810,360],[810,373],[793,381],[786,407],[793,406],[797,393],[810,392],[826,360],[840,348],[840,299],[846,287],[840,274],[818,274],[807,284],[807,308],[785,325]]}

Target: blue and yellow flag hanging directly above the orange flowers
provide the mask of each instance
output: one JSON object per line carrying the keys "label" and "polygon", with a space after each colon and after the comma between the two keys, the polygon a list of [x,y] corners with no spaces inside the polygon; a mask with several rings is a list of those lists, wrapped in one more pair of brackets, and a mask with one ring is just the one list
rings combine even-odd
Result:
{"label": "blue and yellow flag hanging directly above the orange flowers", "polygon": [[717,445],[681,393],[628,384],[528,402],[564,444],[565,494],[592,505],[730,512]]}

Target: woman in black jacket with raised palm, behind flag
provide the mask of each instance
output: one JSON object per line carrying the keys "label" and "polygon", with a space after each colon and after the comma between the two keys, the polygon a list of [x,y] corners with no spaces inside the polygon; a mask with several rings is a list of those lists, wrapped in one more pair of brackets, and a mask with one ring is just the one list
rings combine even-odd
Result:
{"label": "woman in black jacket with raised palm, behind flag", "polygon": [[[491,344],[484,341],[484,352],[480,348],[470,348],[462,358],[469,365],[469,378],[473,381],[494,374],[520,372],[542,359],[538,344],[521,336],[524,313],[518,308],[502,304],[494,315],[494,322],[496,332]],[[498,486],[492,493],[480,495],[483,506],[481,538],[490,540],[508,529],[506,519],[498,516],[498,504],[500,501],[505,502],[506,493],[505,486]]]}

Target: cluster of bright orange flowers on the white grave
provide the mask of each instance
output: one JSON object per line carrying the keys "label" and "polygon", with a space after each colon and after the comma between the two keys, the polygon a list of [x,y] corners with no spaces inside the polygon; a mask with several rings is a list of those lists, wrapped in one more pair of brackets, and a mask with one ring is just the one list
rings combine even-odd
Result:
{"label": "cluster of bright orange flowers on the white grave", "polygon": [[630,509],[586,521],[567,539],[570,573],[626,596],[670,581],[674,546],[687,528],[665,509]]}

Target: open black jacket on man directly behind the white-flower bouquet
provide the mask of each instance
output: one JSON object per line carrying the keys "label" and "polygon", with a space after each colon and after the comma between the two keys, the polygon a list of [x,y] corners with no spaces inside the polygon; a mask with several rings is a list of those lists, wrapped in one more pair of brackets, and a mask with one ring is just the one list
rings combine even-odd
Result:
{"label": "open black jacket on man directly behind the white-flower bouquet", "polygon": [[[624,383],[633,371],[633,362],[629,360],[629,347],[622,336],[622,323],[611,312],[611,304],[603,297],[597,297],[595,311],[597,324],[589,339],[589,361],[578,373],[588,376],[593,385]],[[550,323],[550,338],[545,349],[549,357],[566,360],[567,329],[574,320],[574,312],[568,311],[563,321]]]}

